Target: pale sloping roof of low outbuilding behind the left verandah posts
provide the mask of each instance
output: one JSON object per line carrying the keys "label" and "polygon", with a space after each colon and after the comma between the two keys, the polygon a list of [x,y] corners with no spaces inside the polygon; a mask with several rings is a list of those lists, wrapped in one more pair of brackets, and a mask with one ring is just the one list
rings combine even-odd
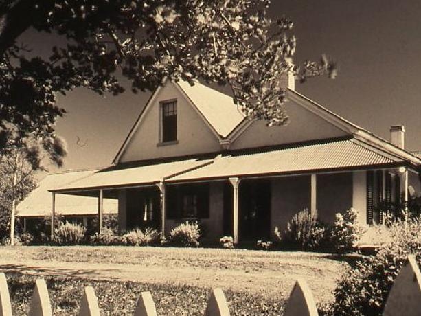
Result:
{"label": "pale sloping roof of low outbuilding behind the left verandah posts", "polygon": [[[49,216],[51,214],[51,192],[54,188],[73,183],[88,177],[96,170],[80,170],[48,174],[16,207],[16,216]],[[56,196],[56,213],[61,215],[94,215],[98,214],[98,199],[87,196]],[[104,213],[117,213],[117,201],[104,199]]]}

